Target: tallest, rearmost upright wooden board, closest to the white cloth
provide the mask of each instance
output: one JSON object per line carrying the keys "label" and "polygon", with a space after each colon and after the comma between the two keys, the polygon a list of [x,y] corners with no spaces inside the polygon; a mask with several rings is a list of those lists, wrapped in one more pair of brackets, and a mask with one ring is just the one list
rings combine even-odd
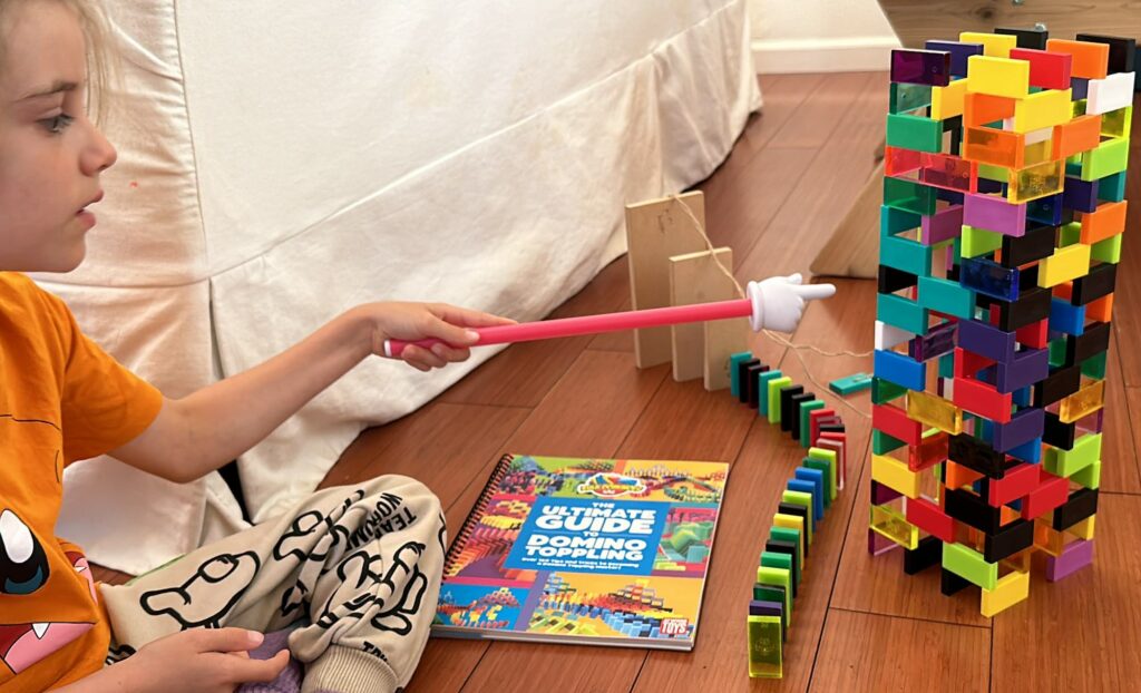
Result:
{"label": "tallest, rearmost upright wooden board, closest to the white cloth", "polygon": [[[705,195],[694,191],[679,195],[705,226]],[[670,258],[705,249],[701,232],[681,204],[671,198],[626,206],[626,243],[630,266],[631,307],[664,308],[670,305]],[[669,363],[670,328],[634,330],[638,368]]]}

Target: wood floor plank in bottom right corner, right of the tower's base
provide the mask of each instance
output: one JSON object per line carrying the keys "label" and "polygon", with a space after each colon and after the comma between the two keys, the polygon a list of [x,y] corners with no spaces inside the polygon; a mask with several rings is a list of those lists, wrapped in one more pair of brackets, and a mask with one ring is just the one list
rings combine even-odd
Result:
{"label": "wood floor plank in bottom right corner, right of the tower's base", "polygon": [[[1093,565],[994,619],[995,691],[1125,691],[1141,670],[1141,498],[1101,495]],[[1130,683],[1134,682],[1134,683]]]}

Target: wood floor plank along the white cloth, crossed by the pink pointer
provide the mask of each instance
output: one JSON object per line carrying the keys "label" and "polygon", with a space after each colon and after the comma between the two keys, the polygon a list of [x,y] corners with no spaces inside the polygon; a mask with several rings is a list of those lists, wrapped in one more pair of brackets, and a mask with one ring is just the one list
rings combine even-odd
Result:
{"label": "wood floor plank along the white cloth, crossed by the pink pointer", "polygon": [[[626,259],[602,268],[549,317],[573,317],[622,309],[630,290]],[[509,316],[510,317],[510,316]],[[511,345],[439,396],[453,404],[536,406],[591,341],[590,336]]]}

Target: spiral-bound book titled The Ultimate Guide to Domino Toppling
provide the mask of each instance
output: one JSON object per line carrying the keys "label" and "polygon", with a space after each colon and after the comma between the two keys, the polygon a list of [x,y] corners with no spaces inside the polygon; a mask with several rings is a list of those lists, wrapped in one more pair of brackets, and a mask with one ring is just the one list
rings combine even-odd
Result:
{"label": "spiral-bound book titled The Ultimate Guide to Domino Toppling", "polygon": [[432,632],[691,650],[728,473],[505,456],[452,542]]}

